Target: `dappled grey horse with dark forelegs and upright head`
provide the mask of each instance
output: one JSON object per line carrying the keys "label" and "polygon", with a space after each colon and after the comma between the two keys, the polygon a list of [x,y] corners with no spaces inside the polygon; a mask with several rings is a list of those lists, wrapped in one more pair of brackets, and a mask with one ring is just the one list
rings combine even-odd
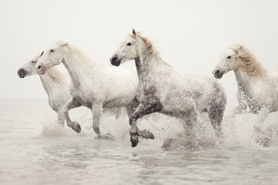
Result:
{"label": "dappled grey horse with dark forelegs and upright head", "polygon": [[132,59],[137,67],[140,90],[140,107],[129,118],[132,147],[137,146],[139,136],[145,137],[136,126],[137,120],[153,112],[180,117],[184,125],[190,126],[195,123],[198,113],[207,111],[216,135],[222,136],[226,94],[217,80],[177,73],[161,59],[152,41],[135,30],[121,42],[110,61],[119,66]]}

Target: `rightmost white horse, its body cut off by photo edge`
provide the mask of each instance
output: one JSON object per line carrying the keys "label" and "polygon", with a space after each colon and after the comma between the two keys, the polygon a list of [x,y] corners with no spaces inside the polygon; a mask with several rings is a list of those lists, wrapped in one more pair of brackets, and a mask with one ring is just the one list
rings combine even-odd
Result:
{"label": "rightmost white horse, its body cut off by photo edge", "polygon": [[233,114],[258,114],[254,125],[256,132],[270,112],[278,111],[278,72],[265,69],[246,47],[236,44],[228,47],[220,56],[213,70],[216,78],[234,70],[238,82],[238,107]]}

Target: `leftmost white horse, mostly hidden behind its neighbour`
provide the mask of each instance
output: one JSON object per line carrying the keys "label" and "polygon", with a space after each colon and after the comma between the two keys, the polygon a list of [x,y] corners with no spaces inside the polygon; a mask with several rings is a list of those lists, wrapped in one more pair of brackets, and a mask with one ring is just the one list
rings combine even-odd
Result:
{"label": "leftmost white horse, mostly hidden behind its neighbour", "polygon": [[[26,64],[20,67],[18,70],[18,76],[24,78],[37,74],[35,65],[38,62],[41,54],[34,56]],[[71,97],[69,92],[70,76],[68,74],[61,73],[57,67],[53,67],[48,70],[44,75],[40,75],[40,81],[48,96],[48,104],[57,112],[57,122],[64,126],[65,116],[63,114],[62,107],[68,102]]]}

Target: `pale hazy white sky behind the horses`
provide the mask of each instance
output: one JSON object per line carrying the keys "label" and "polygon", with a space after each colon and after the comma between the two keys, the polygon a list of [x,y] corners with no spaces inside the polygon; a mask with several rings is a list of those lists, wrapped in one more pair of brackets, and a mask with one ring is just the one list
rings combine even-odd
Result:
{"label": "pale hazy white sky behind the horses", "polygon": [[[0,100],[47,99],[39,75],[21,79],[17,71],[52,41],[69,41],[111,65],[132,28],[153,38],[162,58],[183,74],[212,75],[219,55],[235,43],[276,70],[277,8],[277,0],[1,0]],[[234,73],[220,82],[228,103],[235,101]]]}

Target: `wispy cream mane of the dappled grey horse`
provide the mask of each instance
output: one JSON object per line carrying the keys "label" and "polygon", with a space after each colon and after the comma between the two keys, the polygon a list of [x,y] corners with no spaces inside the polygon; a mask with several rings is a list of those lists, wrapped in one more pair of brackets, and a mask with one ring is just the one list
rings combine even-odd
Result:
{"label": "wispy cream mane of the dappled grey horse", "polygon": [[[150,56],[154,56],[154,57],[158,57],[165,65],[172,67],[170,64],[168,64],[167,62],[165,62],[161,57],[160,57],[160,53],[159,50],[155,47],[154,42],[148,38],[142,35],[141,32],[136,32],[136,34],[138,35],[138,37],[144,42],[144,44],[147,47],[147,52],[146,54],[149,54]],[[131,34],[132,37],[134,37],[133,34]]]}

